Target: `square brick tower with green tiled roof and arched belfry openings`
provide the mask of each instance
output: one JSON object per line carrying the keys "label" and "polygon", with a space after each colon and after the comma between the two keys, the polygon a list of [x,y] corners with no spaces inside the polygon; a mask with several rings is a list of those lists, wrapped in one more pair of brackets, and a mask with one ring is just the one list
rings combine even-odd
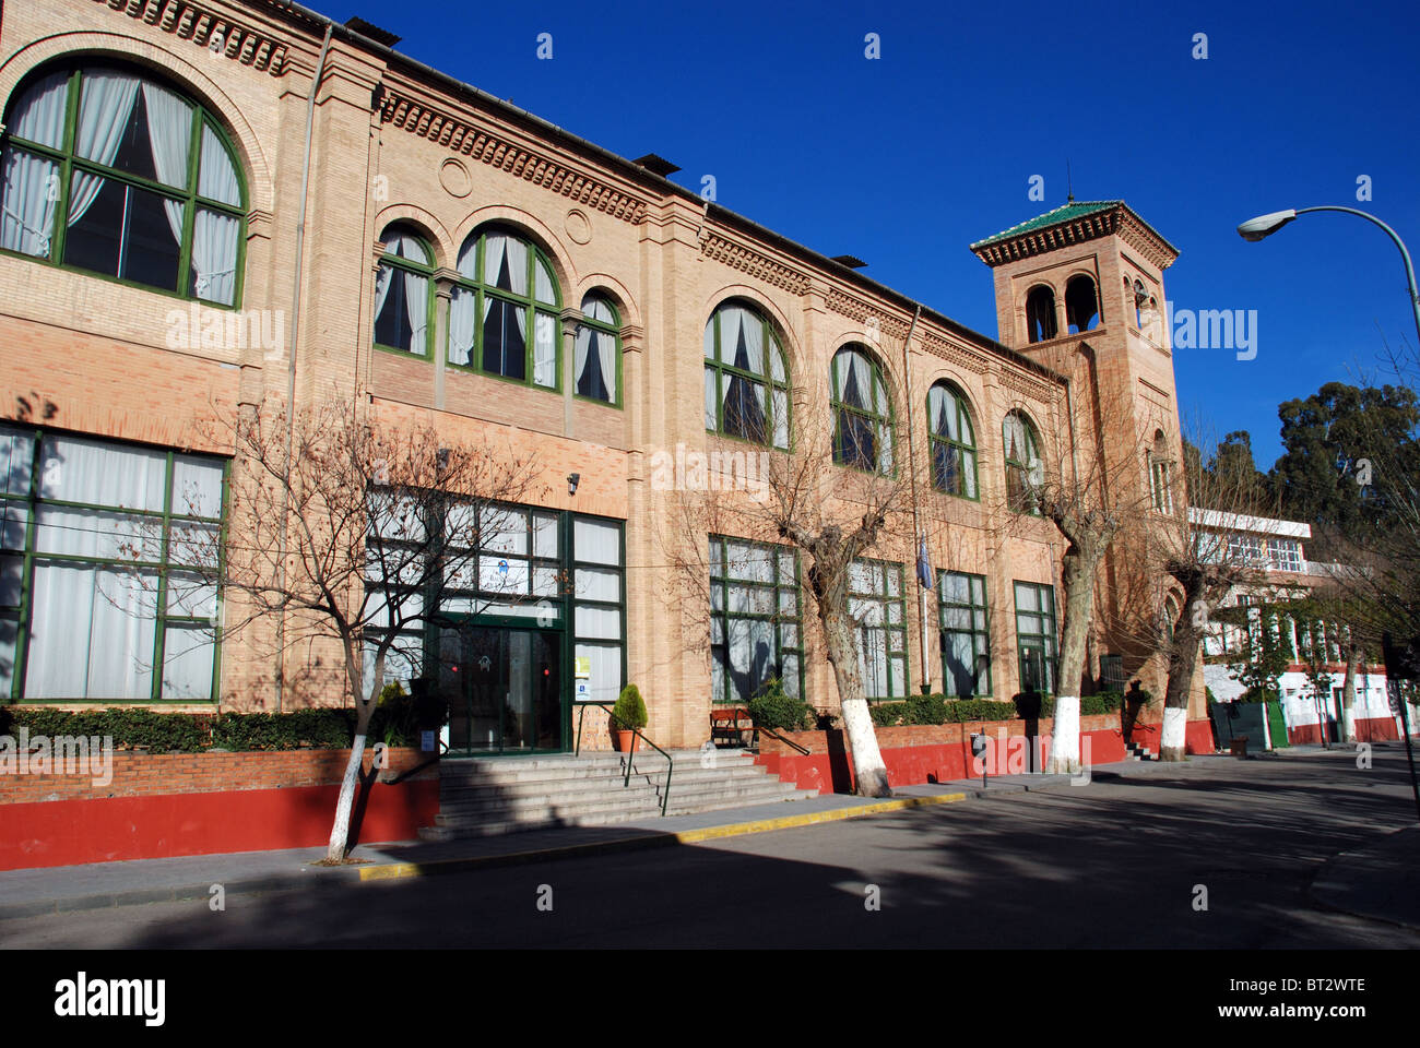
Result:
{"label": "square brick tower with green tiled roof and arched belfry openings", "polygon": [[[1177,249],[1123,200],[1071,200],[971,251],[993,268],[998,339],[1069,379],[1048,443],[1072,456],[1075,476],[1103,483],[1112,504],[1140,514],[1184,511],[1163,288]],[[1142,564],[1137,542],[1127,541],[1116,541],[1105,561],[1089,673],[1110,687],[1140,677],[1162,697],[1163,659],[1149,657],[1130,639],[1137,632],[1120,625],[1160,611],[1142,606],[1149,584]],[[1194,686],[1190,717],[1201,717],[1201,673]]]}

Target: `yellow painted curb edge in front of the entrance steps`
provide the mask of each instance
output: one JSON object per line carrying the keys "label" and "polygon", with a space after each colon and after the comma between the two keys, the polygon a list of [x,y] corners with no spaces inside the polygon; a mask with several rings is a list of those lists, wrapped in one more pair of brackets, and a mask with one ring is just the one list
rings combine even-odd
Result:
{"label": "yellow painted curb edge in front of the entrance steps", "polygon": [[561,848],[541,848],[531,852],[507,852],[504,855],[474,855],[467,859],[436,859],[433,862],[393,862],[383,866],[362,866],[361,880],[390,880],[395,878],[422,878],[432,873],[456,873],[463,869],[477,866],[491,866],[498,863],[527,863],[538,859],[567,858],[569,855],[595,855],[598,852],[635,851],[639,848],[657,848],[670,844],[696,844],[697,841],[713,841],[724,836],[743,836],[746,834],[765,834],[774,829],[792,829],[794,826],[811,826],[818,822],[838,822],[841,819],[859,818],[862,815],[880,815],[888,811],[905,811],[920,808],[929,804],[956,804],[964,801],[966,794],[934,794],[932,797],[895,797],[890,801],[863,804],[853,808],[831,808],[828,811],[805,812],[802,815],[784,815],[777,819],[754,819],[753,822],[731,822],[724,826],[704,826],[701,829],[680,829],[670,834],[646,834],[643,836],[619,836],[611,841],[589,841],[581,845],[565,845]]}

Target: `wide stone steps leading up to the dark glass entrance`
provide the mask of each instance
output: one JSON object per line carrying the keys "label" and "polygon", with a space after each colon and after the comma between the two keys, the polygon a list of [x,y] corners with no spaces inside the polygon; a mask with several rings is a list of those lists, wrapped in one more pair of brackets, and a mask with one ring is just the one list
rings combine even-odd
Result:
{"label": "wide stone steps leading up to the dark glass entrance", "polygon": [[[743,750],[674,750],[666,815],[744,808],[815,797],[781,782]],[[439,815],[425,841],[487,836],[554,826],[601,826],[660,815],[666,758],[633,755],[622,785],[622,754],[446,758],[439,765]]]}

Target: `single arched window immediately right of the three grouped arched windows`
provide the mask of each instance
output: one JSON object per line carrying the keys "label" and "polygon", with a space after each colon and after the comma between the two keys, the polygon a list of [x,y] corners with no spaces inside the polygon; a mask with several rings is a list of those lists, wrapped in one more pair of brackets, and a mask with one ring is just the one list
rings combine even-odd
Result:
{"label": "single arched window immediately right of the three grouped arched windows", "polygon": [[706,324],[704,351],[706,429],[788,450],[788,368],[768,320],[724,302]]}

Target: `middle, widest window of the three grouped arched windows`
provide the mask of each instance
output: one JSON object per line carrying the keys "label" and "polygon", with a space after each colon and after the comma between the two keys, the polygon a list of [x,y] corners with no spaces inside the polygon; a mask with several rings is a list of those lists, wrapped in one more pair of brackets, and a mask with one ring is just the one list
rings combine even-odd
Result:
{"label": "middle, widest window of the three grouped arched windows", "polygon": [[559,389],[562,297],[540,247],[484,227],[459,251],[449,302],[449,364]]}

